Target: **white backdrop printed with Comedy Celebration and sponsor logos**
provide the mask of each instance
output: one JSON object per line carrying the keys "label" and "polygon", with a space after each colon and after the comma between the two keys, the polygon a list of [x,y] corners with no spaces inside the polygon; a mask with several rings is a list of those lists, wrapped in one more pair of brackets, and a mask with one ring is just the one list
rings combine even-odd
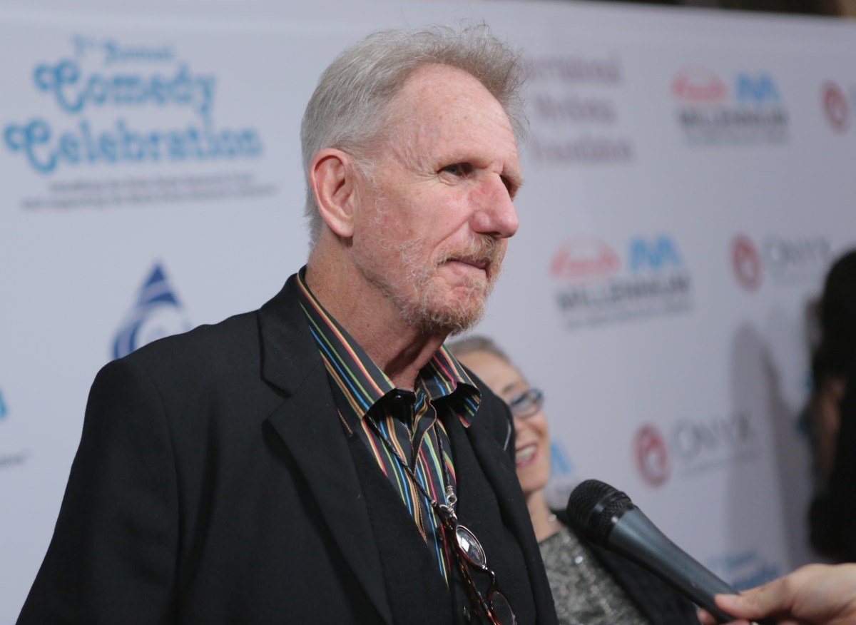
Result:
{"label": "white backdrop printed with Comedy Celebration and sponsor logos", "polygon": [[856,242],[856,26],[574,3],[0,9],[0,622],[98,368],[259,307],[306,258],[298,125],[384,26],[526,49],[520,233],[481,327],[598,477],[736,586],[811,559],[806,310]]}

